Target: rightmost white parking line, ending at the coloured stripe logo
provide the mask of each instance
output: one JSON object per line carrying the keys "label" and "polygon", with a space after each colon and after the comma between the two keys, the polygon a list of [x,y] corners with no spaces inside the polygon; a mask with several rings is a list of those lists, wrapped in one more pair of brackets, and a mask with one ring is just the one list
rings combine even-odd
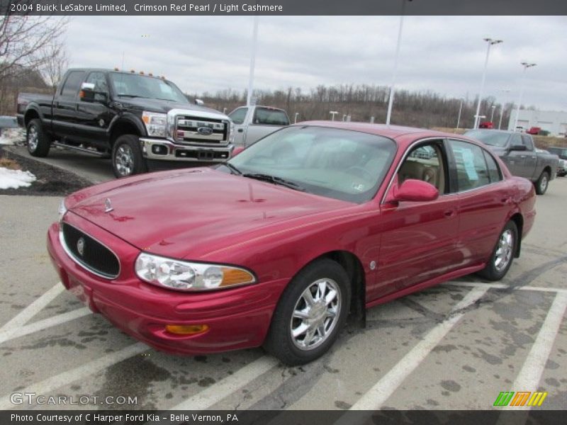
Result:
{"label": "rightmost white parking line, ending at the coloured stripe logo", "polygon": [[[512,391],[537,391],[566,309],[567,294],[557,294],[524,361],[522,370],[512,384]],[[506,409],[517,409],[517,407],[508,406]]]}

